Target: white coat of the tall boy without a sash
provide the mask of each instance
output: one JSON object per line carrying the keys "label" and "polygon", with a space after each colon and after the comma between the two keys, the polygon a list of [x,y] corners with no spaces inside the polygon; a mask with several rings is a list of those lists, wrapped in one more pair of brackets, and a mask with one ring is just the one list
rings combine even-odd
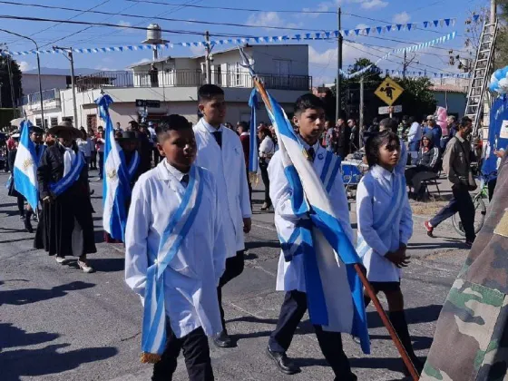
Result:
{"label": "white coat of the tall boy without a sash", "polygon": [[201,118],[194,126],[198,156],[195,164],[209,170],[217,182],[220,211],[226,239],[226,258],[234,257],[245,249],[243,219],[251,216],[249,184],[243,148],[239,136],[230,129],[220,126],[222,149],[211,132],[216,131]]}

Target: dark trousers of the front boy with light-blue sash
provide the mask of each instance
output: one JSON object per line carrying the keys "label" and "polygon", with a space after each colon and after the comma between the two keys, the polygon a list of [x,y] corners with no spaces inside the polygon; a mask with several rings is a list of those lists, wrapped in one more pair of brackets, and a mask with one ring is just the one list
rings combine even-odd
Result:
{"label": "dark trousers of the front boy with light-blue sash", "polygon": [[183,348],[185,366],[190,381],[212,381],[213,371],[210,361],[210,347],[203,328],[199,327],[189,335],[177,338],[168,322],[166,326],[166,349],[161,361],[153,366],[152,381],[171,381],[176,370],[177,359]]}

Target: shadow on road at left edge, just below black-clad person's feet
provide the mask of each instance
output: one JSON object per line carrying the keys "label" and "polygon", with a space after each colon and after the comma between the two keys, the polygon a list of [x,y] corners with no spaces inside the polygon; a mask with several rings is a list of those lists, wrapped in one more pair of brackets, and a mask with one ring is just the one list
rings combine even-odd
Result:
{"label": "shadow on road at left edge, just below black-clad person's feet", "polygon": [[35,303],[42,300],[61,298],[67,295],[69,291],[93,288],[94,286],[93,283],[75,281],[50,289],[21,288],[0,291],[0,306],[3,304],[23,306],[24,304]]}

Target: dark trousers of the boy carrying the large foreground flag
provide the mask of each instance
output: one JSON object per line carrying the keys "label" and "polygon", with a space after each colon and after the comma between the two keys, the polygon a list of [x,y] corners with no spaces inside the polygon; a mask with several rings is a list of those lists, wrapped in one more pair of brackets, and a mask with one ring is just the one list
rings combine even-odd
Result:
{"label": "dark trousers of the boy carrying the large foreground flag", "polygon": [[[284,303],[280,308],[277,327],[269,337],[269,349],[273,352],[286,352],[295,335],[298,323],[307,311],[307,294],[297,290],[286,292]],[[332,367],[336,380],[356,380],[351,373],[351,366],[344,350],[339,332],[324,331],[321,326],[314,326],[319,347],[328,364]]]}

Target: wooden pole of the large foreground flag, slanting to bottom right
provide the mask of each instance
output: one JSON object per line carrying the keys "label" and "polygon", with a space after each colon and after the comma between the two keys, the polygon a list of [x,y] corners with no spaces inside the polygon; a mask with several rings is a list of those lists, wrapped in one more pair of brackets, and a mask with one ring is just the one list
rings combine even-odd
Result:
{"label": "wooden pole of the large foreground flag, slanting to bottom right", "polygon": [[[256,89],[258,90],[259,94],[261,95],[261,98],[263,99],[263,103],[265,103],[267,108],[271,111],[271,105],[269,102],[269,95],[268,95],[267,91],[265,90],[264,86],[261,83],[259,83],[259,81],[256,77],[253,77],[253,82],[254,82],[254,85],[256,86]],[[420,376],[418,376],[418,372],[415,369],[415,365],[411,361],[411,358],[407,355],[407,352],[405,351],[405,347],[402,345],[400,338],[396,334],[396,330],[392,326],[390,319],[387,317],[386,312],[383,309],[383,306],[381,306],[381,303],[379,302],[379,299],[376,296],[376,292],[374,292],[374,289],[370,285],[370,282],[366,278],[366,275],[362,271],[360,265],[358,263],[356,263],[354,265],[354,268],[357,271],[358,278],[360,278],[363,286],[366,289],[367,296],[372,299],[372,302],[374,303],[374,307],[376,308],[376,311],[379,314],[379,317],[381,318],[381,320],[383,321],[383,324],[385,325],[386,329],[388,330],[390,337],[392,337],[392,340],[394,341],[396,348],[397,348],[398,352],[400,353],[402,360],[404,361],[405,366],[409,370],[411,377],[413,378],[414,381],[418,381]]]}

